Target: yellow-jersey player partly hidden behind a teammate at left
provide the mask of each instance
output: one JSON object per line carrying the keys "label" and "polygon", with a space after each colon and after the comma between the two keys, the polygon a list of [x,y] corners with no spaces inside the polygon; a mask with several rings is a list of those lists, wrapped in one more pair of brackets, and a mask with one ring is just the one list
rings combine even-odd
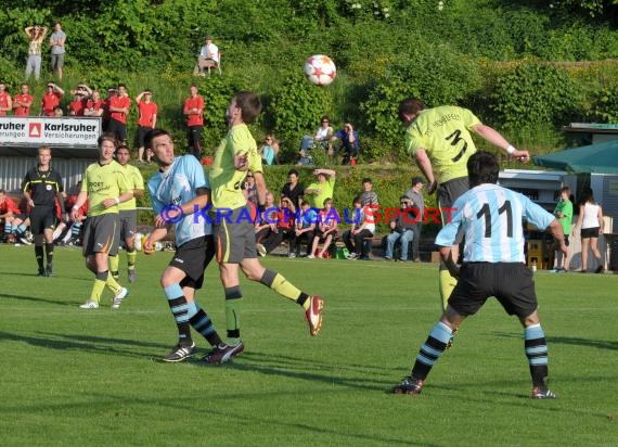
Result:
{"label": "yellow-jersey player partly hidden behind a teammate at left", "polygon": [[[131,159],[129,148],[126,145],[119,145],[116,150],[116,158],[118,159],[118,164],[125,170],[125,178],[127,179],[129,190],[133,192],[133,196],[131,199],[118,205],[120,219],[118,231],[120,232],[120,241],[125,243],[125,250],[127,251],[129,282],[136,282],[136,260],[138,258],[138,252],[136,251],[136,232],[138,231],[138,208],[136,197],[142,197],[144,195],[144,179],[140,169],[129,165],[129,161]],[[115,256],[110,255],[110,272],[116,281],[118,281],[118,266],[119,256],[117,254]]]}

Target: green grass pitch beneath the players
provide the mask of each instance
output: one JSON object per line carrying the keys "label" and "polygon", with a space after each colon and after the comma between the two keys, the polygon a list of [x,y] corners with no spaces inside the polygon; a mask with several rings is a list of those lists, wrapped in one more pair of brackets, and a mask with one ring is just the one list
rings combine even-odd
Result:
{"label": "green grass pitch beneath the players", "polygon": [[[529,398],[523,331],[493,301],[411,397],[386,392],[438,317],[433,265],[268,257],[324,296],[322,332],[244,281],[245,353],[209,367],[159,361],[176,343],[158,286],[171,254],[139,256],[115,311],[108,295],[79,309],[92,277],[77,248],[55,256],[56,277],[37,278],[31,247],[0,246],[1,446],[618,445],[616,276],[537,273],[559,399]],[[198,301],[224,334],[216,269],[206,284]]]}

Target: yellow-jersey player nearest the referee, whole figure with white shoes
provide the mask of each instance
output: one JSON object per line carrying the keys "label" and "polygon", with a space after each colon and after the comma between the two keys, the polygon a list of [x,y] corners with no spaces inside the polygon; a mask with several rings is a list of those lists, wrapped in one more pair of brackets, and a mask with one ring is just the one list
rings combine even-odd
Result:
{"label": "yellow-jersey player nearest the referee, whole figure with white shoes", "polygon": [[118,253],[120,232],[118,205],[131,200],[133,192],[127,184],[123,167],[114,161],[116,137],[103,133],[99,137],[99,161],[86,168],[81,191],[70,212],[73,221],[80,220],[79,208],[89,201],[88,219],[83,229],[86,267],[94,273],[94,284],[90,298],[82,309],[98,309],[105,286],[114,294],[112,308],[120,307],[129,291],[110,274],[108,257]]}

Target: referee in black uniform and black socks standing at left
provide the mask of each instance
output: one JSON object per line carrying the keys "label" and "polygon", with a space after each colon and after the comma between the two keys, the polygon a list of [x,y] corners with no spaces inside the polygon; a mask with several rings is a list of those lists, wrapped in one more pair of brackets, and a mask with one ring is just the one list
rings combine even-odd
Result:
{"label": "referee in black uniform and black socks standing at left", "polygon": [[[22,191],[30,207],[30,232],[35,237],[35,255],[39,265],[39,277],[53,273],[53,230],[56,226],[56,205],[64,214],[62,177],[52,169],[51,148],[40,146],[38,164],[26,173]],[[44,251],[43,251],[44,243]],[[47,266],[43,268],[43,252]]]}

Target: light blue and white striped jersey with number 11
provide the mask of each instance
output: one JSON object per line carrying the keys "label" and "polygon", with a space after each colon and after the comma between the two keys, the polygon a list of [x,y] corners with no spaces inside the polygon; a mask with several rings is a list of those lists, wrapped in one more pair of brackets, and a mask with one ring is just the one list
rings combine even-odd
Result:
{"label": "light blue and white striped jersey with number 11", "polygon": [[523,221],[545,229],[555,219],[525,195],[493,183],[462,194],[453,208],[452,219],[438,233],[436,245],[452,245],[463,229],[466,263],[524,263]]}

